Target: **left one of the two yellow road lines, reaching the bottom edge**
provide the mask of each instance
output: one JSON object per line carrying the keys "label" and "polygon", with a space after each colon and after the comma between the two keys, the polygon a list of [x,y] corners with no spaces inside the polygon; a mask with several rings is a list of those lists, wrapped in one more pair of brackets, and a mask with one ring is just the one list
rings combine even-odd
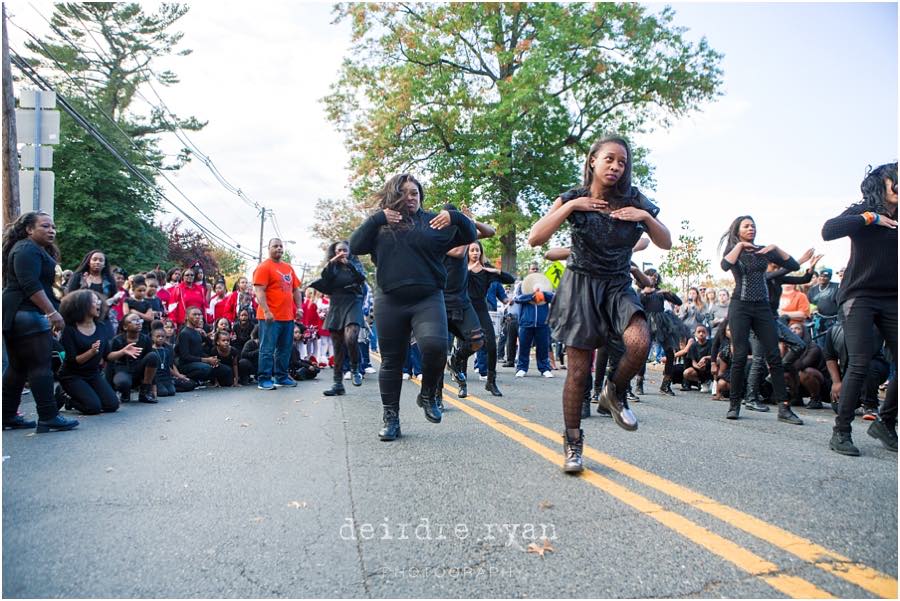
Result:
{"label": "left one of the two yellow road lines, reaching the bottom edge", "polygon": [[[525,436],[518,430],[514,430],[509,426],[501,424],[489,415],[478,411],[457,401],[456,399],[444,394],[444,399],[454,407],[457,407],[464,413],[474,417],[478,421],[490,426],[505,436],[515,440],[522,446],[534,451],[544,459],[559,465],[563,460],[562,455],[550,448],[536,442],[535,440]],[[616,484],[612,480],[604,478],[597,472],[585,469],[581,477],[586,482],[599,488],[610,496],[622,501],[647,517],[653,518],[663,526],[674,530],[684,538],[696,543],[711,553],[718,555],[722,559],[734,564],[739,569],[756,576],[766,582],[775,590],[792,597],[794,599],[833,599],[834,597],[826,591],[820,589],[816,585],[799,578],[797,576],[788,576],[779,573],[781,569],[763,559],[762,557],[752,553],[751,551],[741,547],[740,545],[710,532],[703,526],[696,524],[682,515],[669,511],[661,505],[636,494],[620,484]]]}

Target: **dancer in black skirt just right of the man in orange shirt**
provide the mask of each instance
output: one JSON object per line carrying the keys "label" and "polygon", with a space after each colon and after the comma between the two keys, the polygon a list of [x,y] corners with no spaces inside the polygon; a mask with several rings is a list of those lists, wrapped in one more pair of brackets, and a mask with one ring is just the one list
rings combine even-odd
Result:
{"label": "dancer in black skirt just right of the man in orange shirt", "polygon": [[363,325],[362,301],[366,272],[362,263],[350,254],[350,243],[335,242],[328,247],[328,264],[322,277],[310,286],[329,295],[325,329],[331,333],[334,345],[334,384],[325,396],[345,393],[343,382],[344,357],[350,359],[350,373],[354,386],[362,386],[359,368],[359,328]]}

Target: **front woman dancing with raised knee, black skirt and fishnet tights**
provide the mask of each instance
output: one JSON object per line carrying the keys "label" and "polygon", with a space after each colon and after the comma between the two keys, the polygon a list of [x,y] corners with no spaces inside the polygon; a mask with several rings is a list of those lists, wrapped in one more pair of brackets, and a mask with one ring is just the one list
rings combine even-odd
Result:
{"label": "front woman dancing with raised knee, black skirt and fishnet tights", "polygon": [[584,435],[581,409],[591,373],[591,352],[613,336],[622,339],[619,359],[600,403],[626,430],[637,429],[625,390],[650,348],[650,328],[631,287],[632,247],[647,232],[658,247],[669,249],[669,230],[656,220],[659,209],[631,185],[628,142],[607,137],[591,146],[580,188],[556,199],[550,212],[531,228],[528,242],[538,246],[568,221],[572,254],[550,311],[553,337],[566,344],[568,370],[563,387],[564,471],[582,471]]}

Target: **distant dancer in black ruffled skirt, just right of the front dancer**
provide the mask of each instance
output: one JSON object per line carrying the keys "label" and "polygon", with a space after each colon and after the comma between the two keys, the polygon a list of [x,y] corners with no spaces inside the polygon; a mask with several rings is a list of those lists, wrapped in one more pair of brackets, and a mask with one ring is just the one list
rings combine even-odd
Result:
{"label": "distant dancer in black ruffled skirt, just right of the front dancer", "polygon": [[[686,331],[684,323],[674,313],[666,311],[665,301],[669,301],[676,306],[681,305],[681,299],[678,295],[668,290],[659,289],[662,277],[655,269],[648,269],[644,272],[644,275],[650,278],[652,282],[650,286],[641,290],[641,304],[644,306],[647,321],[650,323],[650,337],[663,347],[663,351],[666,353],[666,365],[663,368],[663,381],[659,386],[659,391],[669,396],[675,396],[675,392],[672,390],[675,349],[678,348],[682,338],[690,336],[690,332]],[[644,394],[644,374],[646,371],[647,362],[644,361],[635,381],[635,389],[639,395]]]}

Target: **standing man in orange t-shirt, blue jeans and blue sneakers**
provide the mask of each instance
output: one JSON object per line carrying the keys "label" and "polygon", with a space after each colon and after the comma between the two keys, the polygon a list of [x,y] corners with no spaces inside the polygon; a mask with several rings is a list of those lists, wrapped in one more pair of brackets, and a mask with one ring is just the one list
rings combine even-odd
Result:
{"label": "standing man in orange t-shirt, blue jeans and blue sneakers", "polygon": [[253,272],[253,290],[259,307],[259,367],[257,387],[272,390],[296,386],[288,375],[291,345],[294,340],[294,313],[301,304],[300,279],[294,268],[283,263],[284,244],[269,240],[269,258]]}

